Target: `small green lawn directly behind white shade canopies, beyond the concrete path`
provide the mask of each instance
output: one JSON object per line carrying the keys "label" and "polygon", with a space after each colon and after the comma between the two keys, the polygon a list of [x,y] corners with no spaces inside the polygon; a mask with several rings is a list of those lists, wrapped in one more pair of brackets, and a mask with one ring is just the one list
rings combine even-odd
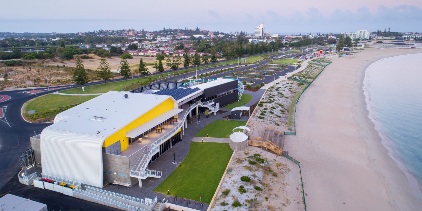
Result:
{"label": "small green lawn directly behind white shade canopies, beyond the concrete path", "polygon": [[[196,137],[215,137],[215,138],[229,138],[232,134],[232,130],[235,127],[245,126],[246,122],[236,120],[225,120],[217,119],[211,124],[208,124],[202,130],[200,130],[195,136]],[[240,131],[240,130],[236,130]]]}

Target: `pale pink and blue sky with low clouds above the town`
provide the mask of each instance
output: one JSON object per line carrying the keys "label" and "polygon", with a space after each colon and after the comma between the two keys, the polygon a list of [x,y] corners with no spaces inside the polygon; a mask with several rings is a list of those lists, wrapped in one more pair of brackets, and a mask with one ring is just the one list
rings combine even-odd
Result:
{"label": "pale pink and blue sky with low clouds above the town", "polygon": [[422,0],[3,1],[0,32],[87,32],[199,27],[265,32],[422,32]]}

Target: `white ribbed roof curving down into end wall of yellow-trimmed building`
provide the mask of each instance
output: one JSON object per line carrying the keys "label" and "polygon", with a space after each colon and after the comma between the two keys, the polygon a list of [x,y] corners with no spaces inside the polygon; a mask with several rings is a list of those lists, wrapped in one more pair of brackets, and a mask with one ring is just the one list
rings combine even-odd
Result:
{"label": "white ribbed roof curving down into end wall of yellow-trimmed building", "polygon": [[42,172],[103,187],[104,140],[169,98],[111,91],[63,111],[40,135]]}

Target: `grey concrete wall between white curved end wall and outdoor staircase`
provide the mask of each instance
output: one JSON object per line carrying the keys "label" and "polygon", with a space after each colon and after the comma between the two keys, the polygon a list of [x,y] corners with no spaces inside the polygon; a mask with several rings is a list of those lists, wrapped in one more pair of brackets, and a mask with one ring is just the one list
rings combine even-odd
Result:
{"label": "grey concrete wall between white curved end wall and outdoor staircase", "polygon": [[[104,173],[104,183],[112,183],[116,180],[132,184],[130,182],[129,157],[103,153],[103,168],[104,170],[116,172],[116,174]],[[119,176],[117,173],[126,174],[127,177]]]}

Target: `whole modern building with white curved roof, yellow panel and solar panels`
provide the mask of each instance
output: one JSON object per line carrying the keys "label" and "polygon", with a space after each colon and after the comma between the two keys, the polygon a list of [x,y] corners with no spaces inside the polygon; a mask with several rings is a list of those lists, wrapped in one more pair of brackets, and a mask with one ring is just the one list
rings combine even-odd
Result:
{"label": "whole modern building with white curved roof, yellow panel and solar panels", "polygon": [[114,181],[141,187],[142,179],[161,177],[148,165],[182,141],[189,117],[238,100],[238,84],[200,79],[107,92],[63,111],[31,137],[35,163],[43,174],[95,187]]}

